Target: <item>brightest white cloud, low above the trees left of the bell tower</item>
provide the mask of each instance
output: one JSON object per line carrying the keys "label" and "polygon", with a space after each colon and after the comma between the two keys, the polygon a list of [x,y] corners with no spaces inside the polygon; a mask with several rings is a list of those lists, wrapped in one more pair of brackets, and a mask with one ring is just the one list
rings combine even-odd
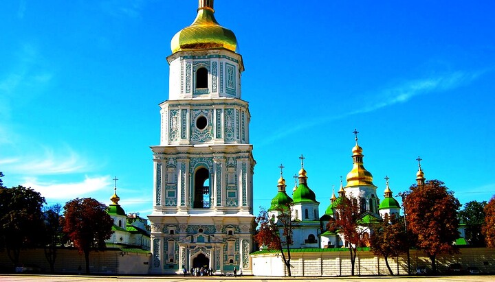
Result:
{"label": "brightest white cloud, low above the trees left of the bell tower", "polygon": [[107,189],[111,185],[111,177],[90,178],[85,176],[83,181],[76,183],[43,183],[37,178],[26,178],[22,185],[31,187],[41,193],[41,196],[50,200],[71,200],[87,197]]}

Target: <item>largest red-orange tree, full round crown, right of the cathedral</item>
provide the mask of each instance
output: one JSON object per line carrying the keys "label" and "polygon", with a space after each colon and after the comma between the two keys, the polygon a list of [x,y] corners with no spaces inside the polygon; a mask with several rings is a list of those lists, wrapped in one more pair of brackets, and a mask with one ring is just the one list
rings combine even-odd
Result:
{"label": "largest red-orange tree, full round crown, right of the cathedral", "polygon": [[461,203],[440,180],[412,185],[404,198],[408,230],[417,239],[417,248],[426,253],[437,272],[437,255],[456,253],[452,244],[458,237],[458,211]]}

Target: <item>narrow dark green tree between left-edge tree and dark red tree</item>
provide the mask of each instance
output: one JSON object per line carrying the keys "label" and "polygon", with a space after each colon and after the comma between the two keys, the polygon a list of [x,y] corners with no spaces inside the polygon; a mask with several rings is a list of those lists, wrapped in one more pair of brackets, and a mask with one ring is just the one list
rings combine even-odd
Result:
{"label": "narrow dark green tree between left-edge tree and dark red tree", "polygon": [[66,236],[63,233],[64,218],[61,215],[61,211],[61,204],[54,204],[43,209],[43,249],[52,273],[55,272],[57,250],[66,242]]}

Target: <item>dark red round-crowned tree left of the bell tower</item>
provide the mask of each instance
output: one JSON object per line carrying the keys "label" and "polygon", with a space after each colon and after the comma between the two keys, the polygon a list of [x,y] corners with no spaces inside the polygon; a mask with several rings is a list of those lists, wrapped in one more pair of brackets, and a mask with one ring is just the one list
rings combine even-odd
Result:
{"label": "dark red round-crowned tree left of the bell tower", "polygon": [[103,250],[105,240],[113,233],[113,220],[107,213],[107,205],[93,198],[76,198],[65,203],[63,231],[69,240],[84,253],[86,273],[89,274],[89,252]]}

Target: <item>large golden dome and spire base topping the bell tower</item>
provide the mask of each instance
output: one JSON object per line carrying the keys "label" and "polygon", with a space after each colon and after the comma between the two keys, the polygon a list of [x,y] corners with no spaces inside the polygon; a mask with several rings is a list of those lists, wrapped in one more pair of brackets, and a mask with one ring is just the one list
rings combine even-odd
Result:
{"label": "large golden dome and spire base topping the bell tower", "polygon": [[236,51],[237,39],[232,30],[217,23],[214,18],[213,1],[199,0],[195,21],[173,36],[172,53],[183,50],[225,48]]}

